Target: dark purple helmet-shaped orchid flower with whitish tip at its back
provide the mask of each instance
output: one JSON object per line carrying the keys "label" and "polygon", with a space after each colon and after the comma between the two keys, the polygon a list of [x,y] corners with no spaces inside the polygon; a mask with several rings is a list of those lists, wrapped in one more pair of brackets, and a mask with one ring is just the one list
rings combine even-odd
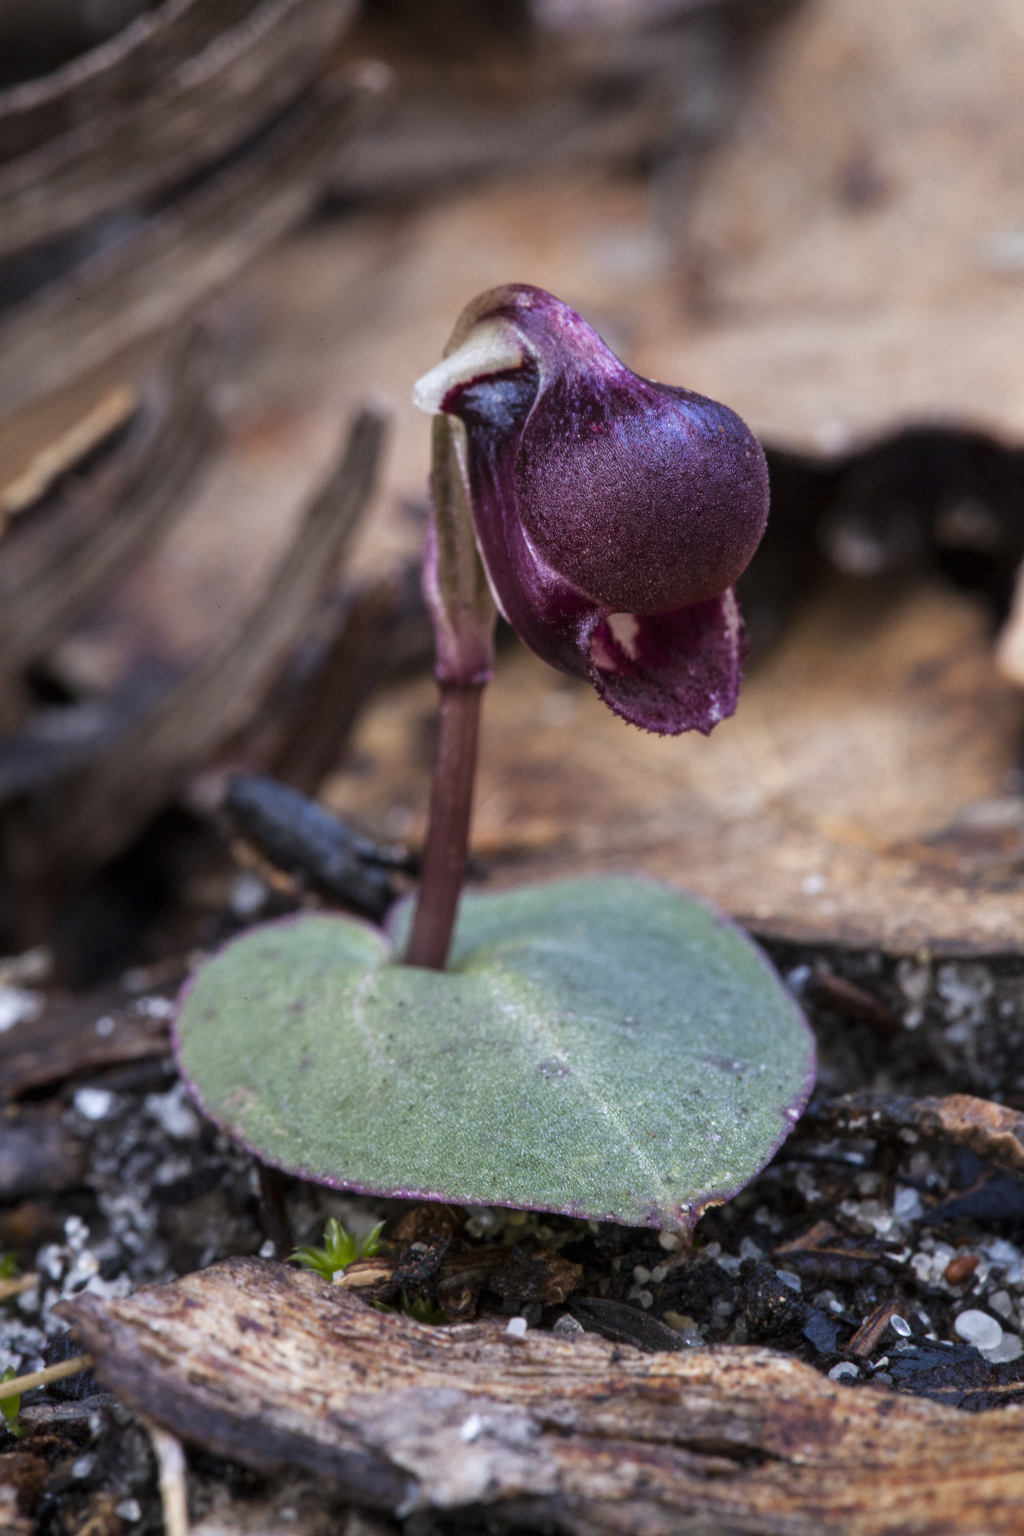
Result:
{"label": "dark purple helmet-shaped orchid flower with whitish tip at its back", "polygon": [[479,551],[537,656],[663,736],[732,714],[746,653],[732,582],[768,518],[765,455],[734,412],[639,378],[568,304],[519,283],[462,312],[413,399],[465,425]]}

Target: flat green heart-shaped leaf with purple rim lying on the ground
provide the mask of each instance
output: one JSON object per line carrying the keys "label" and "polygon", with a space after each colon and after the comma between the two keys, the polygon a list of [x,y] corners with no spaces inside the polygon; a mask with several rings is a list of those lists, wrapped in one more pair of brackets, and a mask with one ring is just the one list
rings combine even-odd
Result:
{"label": "flat green heart-shaped leaf with purple rim lying on the ground", "polygon": [[344,917],[250,929],[197,974],[177,1035],[207,1114],[307,1178],[685,1229],[814,1083],[751,940],[623,877],[465,895],[444,972]]}

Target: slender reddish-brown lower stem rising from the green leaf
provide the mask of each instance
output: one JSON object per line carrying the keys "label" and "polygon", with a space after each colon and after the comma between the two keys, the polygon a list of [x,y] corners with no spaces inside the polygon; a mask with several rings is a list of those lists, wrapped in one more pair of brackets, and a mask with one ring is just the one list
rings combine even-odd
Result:
{"label": "slender reddish-brown lower stem rising from the green leaf", "polygon": [[430,829],[405,965],[444,971],[470,846],[484,684],[439,684],[441,733]]}

